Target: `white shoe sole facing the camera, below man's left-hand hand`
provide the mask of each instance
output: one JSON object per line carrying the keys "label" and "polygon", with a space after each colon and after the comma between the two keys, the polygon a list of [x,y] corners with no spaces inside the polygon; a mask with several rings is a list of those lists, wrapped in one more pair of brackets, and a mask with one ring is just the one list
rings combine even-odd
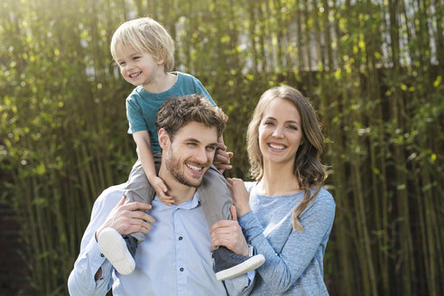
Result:
{"label": "white shoe sole facing the camera, below man's left-hand hand", "polygon": [[106,259],[121,274],[133,273],[135,263],[124,238],[113,228],[105,228],[98,236],[98,247]]}

